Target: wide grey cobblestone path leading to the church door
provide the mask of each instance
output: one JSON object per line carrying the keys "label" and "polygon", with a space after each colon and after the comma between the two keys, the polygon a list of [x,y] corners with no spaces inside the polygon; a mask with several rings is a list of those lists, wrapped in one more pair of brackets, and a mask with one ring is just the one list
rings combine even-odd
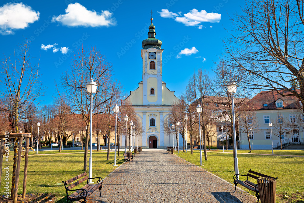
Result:
{"label": "wide grey cobblestone path leading to the church door", "polygon": [[[231,177],[232,178],[232,177]],[[257,202],[257,198],[165,150],[142,151],[103,181],[88,203]]]}

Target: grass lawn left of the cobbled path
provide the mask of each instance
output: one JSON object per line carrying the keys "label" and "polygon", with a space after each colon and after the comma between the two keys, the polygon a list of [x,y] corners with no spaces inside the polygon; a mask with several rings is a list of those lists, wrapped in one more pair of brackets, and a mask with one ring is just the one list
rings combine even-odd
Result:
{"label": "grass lawn left of the cobbled path", "polygon": [[[62,181],[66,181],[76,175],[83,173],[83,156],[84,155],[82,153],[58,154],[57,156],[29,156],[26,193],[51,193],[57,197],[57,200],[61,199],[60,201],[57,201],[58,203],[66,201],[65,198],[62,199],[64,196],[66,196]],[[106,161],[106,156],[106,151],[92,153],[92,177],[104,178],[123,163],[122,154],[117,157],[118,166],[113,166],[114,151],[110,152],[109,161]],[[11,164],[9,168],[10,187],[12,180],[12,161],[13,158],[9,157],[9,162],[6,162]],[[2,173],[5,173],[4,169],[2,169]],[[18,194],[22,193],[23,173],[24,159],[21,159]],[[1,191],[4,189],[4,182],[7,181],[4,180],[4,178],[4,175],[2,175]]]}

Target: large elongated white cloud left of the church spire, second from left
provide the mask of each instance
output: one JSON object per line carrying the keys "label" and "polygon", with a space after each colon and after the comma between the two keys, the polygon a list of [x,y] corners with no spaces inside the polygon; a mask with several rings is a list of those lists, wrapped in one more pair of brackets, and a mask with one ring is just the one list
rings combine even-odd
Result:
{"label": "large elongated white cloud left of the church spire, second from left", "polygon": [[80,3],[69,4],[65,9],[65,14],[53,16],[52,22],[60,22],[66,26],[112,26],[116,25],[116,19],[111,16],[113,13],[108,10],[97,13],[95,10],[89,11]]}

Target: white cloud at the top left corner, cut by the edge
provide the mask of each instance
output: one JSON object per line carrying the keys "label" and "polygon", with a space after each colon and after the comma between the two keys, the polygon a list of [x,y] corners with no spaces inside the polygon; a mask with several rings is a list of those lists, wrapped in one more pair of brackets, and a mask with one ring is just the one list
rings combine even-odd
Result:
{"label": "white cloud at the top left corner, cut by the edge", "polygon": [[0,7],[0,33],[14,34],[14,29],[24,29],[39,19],[40,13],[23,3],[7,3]]}

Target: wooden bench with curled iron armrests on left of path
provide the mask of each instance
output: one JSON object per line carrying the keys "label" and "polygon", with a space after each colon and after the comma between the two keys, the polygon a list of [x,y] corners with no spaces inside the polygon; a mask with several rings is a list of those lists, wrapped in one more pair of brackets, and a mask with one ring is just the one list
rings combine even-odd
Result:
{"label": "wooden bench with curled iron armrests on left of path", "polygon": [[[89,184],[88,183],[88,179],[95,179],[98,178],[97,180],[97,184]],[[101,177],[95,177],[95,178],[89,178],[87,176],[87,173],[84,172],[78,176],[75,176],[73,178],[71,178],[70,180],[67,181],[62,181],[65,187],[65,191],[67,192],[67,203],[68,201],[73,202],[73,201],[79,201],[82,203],[86,203],[87,200],[86,198],[88,196],[90,196],[93,192],[95,192],[95,190],[99,189],[99,197],[101,197],[101,188],[102,188],[102,178]],[[78,180],[80,179],[80,180]],[[74,182],[75,180],[78,180],[77,182],[71,184],[72,182]],[[87,184],[79,189],[76,190],[72,190],[73,187],[81,184],[82,182],[84,182],[85,180],[87,180]],[[74,191],[73,194],[68,194],[69,191]]]}

